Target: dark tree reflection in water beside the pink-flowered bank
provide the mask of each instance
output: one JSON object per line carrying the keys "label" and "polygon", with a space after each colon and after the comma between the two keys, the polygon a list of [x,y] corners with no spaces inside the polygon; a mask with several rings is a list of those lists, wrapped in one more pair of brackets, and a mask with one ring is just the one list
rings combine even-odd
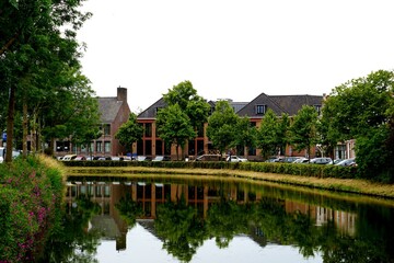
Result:
{"label": "dark tree reflection in water beside the pink-flowered bank", "polygon": [[101,233],[88,231],[89,220],[101,210],[100,206],[84,196],[77,198],[68,210],[59,210],[62,220],[56,226],[39,262],[94,263]]}

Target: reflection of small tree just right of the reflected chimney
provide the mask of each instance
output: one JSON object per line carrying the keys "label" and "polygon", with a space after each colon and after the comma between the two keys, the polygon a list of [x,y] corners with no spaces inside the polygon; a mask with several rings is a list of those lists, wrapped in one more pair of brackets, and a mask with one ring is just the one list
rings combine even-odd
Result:
{"label": "reflection of small tree just right of the reflected chimney", "polygon": [[137,218],[143,216],[142,205],[132,201],[130,193],[127,193],[126,197],[121,197],[115,207],[119,210],[121,218],[129,228],[134,228],[137,224]]}

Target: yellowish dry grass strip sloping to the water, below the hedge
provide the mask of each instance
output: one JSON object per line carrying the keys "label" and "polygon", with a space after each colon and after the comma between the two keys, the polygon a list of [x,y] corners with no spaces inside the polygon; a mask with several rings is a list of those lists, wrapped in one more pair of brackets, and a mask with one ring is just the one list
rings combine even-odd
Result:
{"label": "yellowish dry grass strip sloping to the water, below the hedge", "polygon": [[313,188],[322,188],[337,192],[358,193],[372,196],[394,198],[394,185],[374,183],[358,179],[316,178],[289,175],[279,173],[265,173],[244,171],[236,169],[182,169],[182,168],[153,168],[153,167],[67,167],[69,175],[100,175],[127,176],[135,173],[166,173],[166,174],[193,174],[210,176],[235,176],[251,180],[260,180]]}

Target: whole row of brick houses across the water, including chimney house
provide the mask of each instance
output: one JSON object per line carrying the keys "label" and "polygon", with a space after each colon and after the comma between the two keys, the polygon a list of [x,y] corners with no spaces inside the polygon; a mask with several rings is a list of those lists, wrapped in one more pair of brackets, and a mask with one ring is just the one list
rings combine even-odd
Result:
{"label": "whole row of brick houses across the water, including chimney house", "polygon": [[[283,113],[289,116],[294,116],[303,105],[313,106],[321,113],[324,95],[267,95],[260,93],[251,102],[233,102],[229,100],[234,108],[234,112],[240,116],[247,116],[253,126],[259,127],[268,108],[273,110],[278,116]],[[116,96],[97,98],[99,110],[101,113],[102,122],[102,137],[92,141],[90,146],[80,147],[72,146],[68,140],[58,140],[55,145],[56,156],[63,156],[67,153],[88,155],[93,156],[123,156],[132,153],[137,156],[171,156],[176,157],[175,146],[166,147],[164,141],[157,134],[155,117],[159,108],[165,107],[166,104],[161,98],[151,106],[142,111],[137,121],[143,126],[143,137],[141,140],[132,146],[132,152],[126,152],[117,139],[115,139],[116,132],[121,124],[128,121],[130,107],[127,102],[127,89],[117,88]],[[212,111],[215,110],[216,102],[209,101]],[[188,141],[185,149],[185,155],[190,159],[202,153],[212,153],[216,151],[209,138],[206,136],[207,124],[198,129],[197,137]],[[335,158],[350,158],[354,156],[354,146],[349,144],[338,145]],[[251,160],[262,159],[260,150],[252,147],[240,147],[236,153],[246,156]],[[313,156],[318,155],[317,148],[312,151]],[[296,152],[291,146],[285,149],[285,152],[278,152],[282,156],[304,156],[305,152]]]}

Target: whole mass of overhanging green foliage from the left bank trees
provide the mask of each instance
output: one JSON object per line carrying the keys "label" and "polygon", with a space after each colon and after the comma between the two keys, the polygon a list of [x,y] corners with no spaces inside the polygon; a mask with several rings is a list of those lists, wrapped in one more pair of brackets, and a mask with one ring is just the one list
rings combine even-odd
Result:
{"label": "whole mass of overhanging green foliage from the left bank trees", "polygon": [[[79,11],[82,2],[83,0],[7,0],[0,3],[0,82],[3,87],[2,93],[8,98],[0,114],[1,118],[4,118],[7,113],[8,162],[11,161],[14,125],[15,122],[21,122],[15,116],[21,112],[22,105],[23,129],[27,128],[28,116],[31,121],[32,117],[34,122],[37,121],[31,126],[44,125],[47,127],[47,134],[70,130],[53,126],[49,132],[50,122],[47,117],[50,113],[43,108],[48,105],[51,108],[58,101],[63,101],[65,104],[60,108],[62,111],[56,112],[55,115],[70,121],[71,115],[67,118],[67,113],[66,116],[62,114],[66,107],[71,107],[70,104],[66,104],[70,102],[69,98],[81,98],[80,87],[83,93],[86,92],[83,95],[85,100],[79,101],[78,105],[72,104],[76,107],[71,111],[74,114],[90,112],[91,115],[92,111],[97,111],[90,99],[93,92],[89,87],[89,80],[82,77],[80,71],[79,58],[82,55],[82,46],[76,36],[83,22],[91,16],[91,13]],[[81,102],[85,102],[82,107]],[[45,114],[47,116],[44,117]],[[86,126],[97,121],[95,117],[80,117],[78,122],[81,119],[89,122],[84,123]],[[77,127],[74,124],[66,126]],[[77,136],[77,130],[71,132],[69,135],[73,135],[74,138],[82,136]]]}

